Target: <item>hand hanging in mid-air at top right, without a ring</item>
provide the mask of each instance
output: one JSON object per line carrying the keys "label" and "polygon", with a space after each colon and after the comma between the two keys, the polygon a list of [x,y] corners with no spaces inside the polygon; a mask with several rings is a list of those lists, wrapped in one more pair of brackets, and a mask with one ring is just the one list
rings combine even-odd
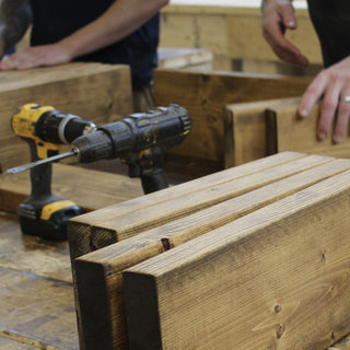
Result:
{"label": "hand hanging in mid-air at top right, without a ring", "polygon": [[296,28],[296,19],[291,0],[264,0],[262,36],[281,60],[306,67],[308,61],[285,37],[287,30]]}

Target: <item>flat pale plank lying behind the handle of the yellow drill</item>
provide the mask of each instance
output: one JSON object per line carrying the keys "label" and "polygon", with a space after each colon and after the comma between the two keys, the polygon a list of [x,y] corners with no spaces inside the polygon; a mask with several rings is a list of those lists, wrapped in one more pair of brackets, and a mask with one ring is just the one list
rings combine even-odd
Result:
{"label": "flat pale plank lying behind the handle of the yellow drill", "polygon": [[[52,164],[52,194],[70,199],[83,210],[101,209],[143,195],[140,178]],[[16,212],[31,194],[30,173],[0,176],[0,210]]]}

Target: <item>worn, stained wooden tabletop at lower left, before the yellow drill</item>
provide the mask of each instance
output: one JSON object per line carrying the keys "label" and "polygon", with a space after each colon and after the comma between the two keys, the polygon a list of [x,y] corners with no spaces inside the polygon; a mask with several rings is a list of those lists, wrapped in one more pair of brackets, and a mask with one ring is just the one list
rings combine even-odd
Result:
{"label": "worn, stained wooden tabletop at lower left, before the yellow drill", "polygon": [[22,235],[3,212],[0,242],[0,349],[77,350],[68,243]]}

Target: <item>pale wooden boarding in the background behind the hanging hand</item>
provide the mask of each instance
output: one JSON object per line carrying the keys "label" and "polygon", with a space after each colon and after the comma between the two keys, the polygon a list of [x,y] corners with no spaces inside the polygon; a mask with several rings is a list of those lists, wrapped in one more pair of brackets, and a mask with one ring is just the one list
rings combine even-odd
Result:
{"label": "pale wooden boarding in the background behind the hanging hand", "polygon": [[[319,65],[319,43],[305,3],[293,4],[298,30],[288,31],[287,37],[311,63]],[[261,35],[260,1],[173,1],[161,13],[161,47],[209,48],[214,57],[231,60],[279,61]],[[215,59],[213,65],[214,69],[221,69]]]}

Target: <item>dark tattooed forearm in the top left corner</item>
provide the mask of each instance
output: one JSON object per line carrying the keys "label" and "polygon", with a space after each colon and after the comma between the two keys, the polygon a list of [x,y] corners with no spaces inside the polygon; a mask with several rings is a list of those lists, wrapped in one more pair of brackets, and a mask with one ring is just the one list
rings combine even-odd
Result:
{"label": "dark tattooed forearm in the top left corner", "polygon": [[0,39],[3,51],[13,47],[32,23],[32,10],[26,0],[2,0],[0,7]]}

